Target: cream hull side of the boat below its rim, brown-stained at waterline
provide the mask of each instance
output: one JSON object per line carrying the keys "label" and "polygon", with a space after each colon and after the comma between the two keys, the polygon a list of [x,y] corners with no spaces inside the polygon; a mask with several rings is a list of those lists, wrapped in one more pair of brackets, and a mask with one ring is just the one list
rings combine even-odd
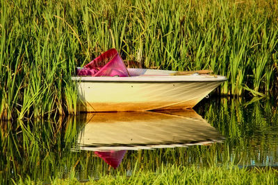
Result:
{"label": "cream hull side of the boat below its rim, brown-stained at waterline", "polygon": [[79,82],[81,112],[192,108],[222,81]]}

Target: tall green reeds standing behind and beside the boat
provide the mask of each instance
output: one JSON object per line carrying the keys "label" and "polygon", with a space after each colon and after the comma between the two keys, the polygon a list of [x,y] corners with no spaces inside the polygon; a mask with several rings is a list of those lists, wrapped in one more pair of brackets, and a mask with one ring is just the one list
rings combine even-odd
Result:
{"label": "tall green reeds standing behind and beside the boat", "polygon": [[278,1],[0,1],[0,117],[76,114],[70,79],[115,48],[125,62],[229,79],[215,93],[277,91]]}

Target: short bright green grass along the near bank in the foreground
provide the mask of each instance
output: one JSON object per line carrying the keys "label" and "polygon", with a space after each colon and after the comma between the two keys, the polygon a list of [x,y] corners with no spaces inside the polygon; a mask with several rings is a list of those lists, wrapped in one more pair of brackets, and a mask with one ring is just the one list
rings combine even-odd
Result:
{"label": "short bright green grass along the near bank in the foreground", "polygon": [[[238,168],[222,166],[198,168],[197,166],[161,166],[156,172],[139,170],[130,177],[118,174],[103,175],[99,179],[89,178],[79,182],[76,177],[51,179],[50,184],[277,184],[278,170],[272,168]],[[72,174],[74,175],[74,174]],[[17,184],[44,184],[22,179]]]}

